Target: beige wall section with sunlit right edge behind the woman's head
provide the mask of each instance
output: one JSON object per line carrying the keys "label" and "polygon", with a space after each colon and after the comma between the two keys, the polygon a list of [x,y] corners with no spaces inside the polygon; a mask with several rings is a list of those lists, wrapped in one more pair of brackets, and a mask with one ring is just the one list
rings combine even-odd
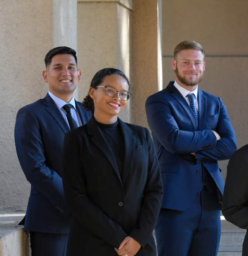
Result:
{"label": "beige wall section with sunlit right edge behind the woman's head", "polygon": [[[78,2],[78,66],[82,81],[78,100],[87,95],[94,74],[102,68],[119,68],[129,76],[130,9],[119,1]],[[129,122],[129,104],[120,118]]]}

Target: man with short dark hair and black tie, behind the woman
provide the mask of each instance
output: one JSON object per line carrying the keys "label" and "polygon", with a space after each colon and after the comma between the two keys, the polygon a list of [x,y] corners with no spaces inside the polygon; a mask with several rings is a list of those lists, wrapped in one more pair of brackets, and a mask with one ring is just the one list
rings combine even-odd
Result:
{"label": "man with short dark hair and black tie, behind the woman", "polygon": [[65,256],[70,212],[62,184],[64,135],[91,117],[73,92],[80,81],[76,51],[56,47],[45,57],[45,98],[21,108],[16,117],[15,145],[21,168],[31,183],[24,230],[32,256]]}

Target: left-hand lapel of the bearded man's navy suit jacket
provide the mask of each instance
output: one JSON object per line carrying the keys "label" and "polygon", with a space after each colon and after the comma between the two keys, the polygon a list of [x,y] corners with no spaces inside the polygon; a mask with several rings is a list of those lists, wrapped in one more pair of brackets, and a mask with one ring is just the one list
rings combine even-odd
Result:
{"label": "left-hand lapel of the bearded man's navy suit jacket", "polygon": [[177,90],[177,88],[173,85],[174,82],[170,82],[167,86],[167,90],[171,93],[171,95],[181,104],[181,106],[184,108],[185,112],[187,113],[188,117],[190,118],[194,129],[198,130],[198,121],[191,110],[189,104],[185,101],[183,95]]}

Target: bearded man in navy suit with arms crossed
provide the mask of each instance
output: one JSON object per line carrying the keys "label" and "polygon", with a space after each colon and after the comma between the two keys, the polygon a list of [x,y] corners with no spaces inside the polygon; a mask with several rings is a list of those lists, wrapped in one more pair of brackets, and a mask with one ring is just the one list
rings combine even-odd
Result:
{"label": "bearded man in navy suit with arms crossed", "polygon": [[218,167],[236,150],[219,97],[198,88],[204,48],[183,41],[174,51],[176,80],[146,102],[163,180],[156,231],[158,256],[216,256],[224,182]]}

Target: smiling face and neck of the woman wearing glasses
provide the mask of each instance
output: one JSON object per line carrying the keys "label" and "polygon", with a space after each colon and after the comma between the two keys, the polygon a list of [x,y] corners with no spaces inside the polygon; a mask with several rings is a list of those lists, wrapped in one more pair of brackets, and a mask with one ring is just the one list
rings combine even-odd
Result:
{"label": "smiling face and neck of the woman wearing glasses", "polygon": [[[119,74],[106,75],[99,86],[111,86],[117,91],[128,91],[127,80]],[[120,94],[113,97],[107,96],[105,88],[90,88],[89,95],[94,102],[94,117],[102,124],[113,124],[117,115],[125,108],[127,101],[120,99]]]}

